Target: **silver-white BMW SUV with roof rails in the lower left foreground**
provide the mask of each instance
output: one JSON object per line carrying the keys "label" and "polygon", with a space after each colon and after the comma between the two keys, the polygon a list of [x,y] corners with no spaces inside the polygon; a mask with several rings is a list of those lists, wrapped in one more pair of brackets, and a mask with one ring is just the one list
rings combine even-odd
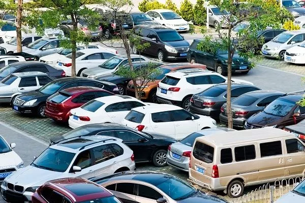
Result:
{"label": "silver-white BMW SUV with roof rails in the lower left foreground", "polygon": [[109,136],[77,137],[48,147],[31,165],[1,185],[3,197],[31,201],[33,193],[45,182],[59,178],[93,178],[135,170],[133,151],[123,140]]}

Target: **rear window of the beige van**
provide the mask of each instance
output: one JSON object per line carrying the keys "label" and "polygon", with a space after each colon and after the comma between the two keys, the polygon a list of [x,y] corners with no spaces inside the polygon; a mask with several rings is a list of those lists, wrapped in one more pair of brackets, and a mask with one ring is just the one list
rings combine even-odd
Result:
{"label": "rear window of the beige van", "polygon": [[214,147],[197,141],[193,149],[193,156],[205,163],[211,163],[214,159]]}

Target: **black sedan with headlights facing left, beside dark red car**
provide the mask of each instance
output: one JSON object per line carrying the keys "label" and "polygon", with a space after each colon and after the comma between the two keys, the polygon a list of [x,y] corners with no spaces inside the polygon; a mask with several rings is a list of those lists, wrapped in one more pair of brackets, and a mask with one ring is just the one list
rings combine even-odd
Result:
{"label": "black sedan with headlights facing left, beside dark red car", "polygon": [[109,82],[79,77],[60,78],[42,86],[38,90],[25,92],[16,96],[12,108],[15,112],[21,114],[33,113],[37,114],[40,118],[44,118],[46,100],[49,96],[59,90],[79,86],[103,88],[115,94],[118,93],[116,85]]}

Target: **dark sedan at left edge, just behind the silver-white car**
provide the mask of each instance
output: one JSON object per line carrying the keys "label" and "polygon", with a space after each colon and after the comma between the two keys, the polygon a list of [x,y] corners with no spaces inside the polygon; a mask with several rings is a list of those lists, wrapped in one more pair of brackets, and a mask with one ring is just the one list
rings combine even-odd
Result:
{"label": "dark sedan at left edge, just behind the silver-white car", "polygon": [[51,78],[63,78],[66,77],[66,73],[62,69],[56,69],[46,63],[38,61],[20,61],[9,64],[0,69],[0,80],[11,75],[12,73],[23,73],[38,71],[46,73]]}

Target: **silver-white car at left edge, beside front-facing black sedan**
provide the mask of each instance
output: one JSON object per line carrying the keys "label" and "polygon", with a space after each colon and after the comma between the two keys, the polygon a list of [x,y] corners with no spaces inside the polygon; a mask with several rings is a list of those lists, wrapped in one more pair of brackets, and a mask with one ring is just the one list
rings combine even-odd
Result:
{"label": "silver-white car at left edge, beside front-facing black sedan", "polygon": [[11,103],[14,98],[24,92],[39,89],[53,81],[41,72],[13,73],[0,82],[0,103]]}

